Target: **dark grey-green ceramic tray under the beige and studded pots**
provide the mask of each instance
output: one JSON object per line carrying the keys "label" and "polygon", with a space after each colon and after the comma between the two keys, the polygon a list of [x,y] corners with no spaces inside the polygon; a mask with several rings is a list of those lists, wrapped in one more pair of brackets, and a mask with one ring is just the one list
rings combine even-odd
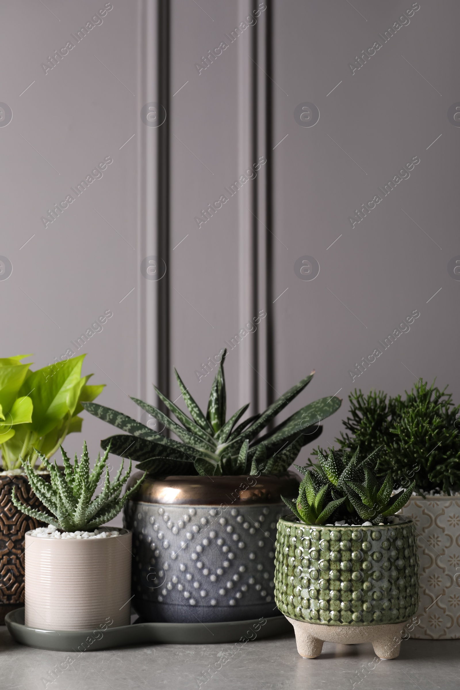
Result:
{"label": "dark grey-green ceramic tray under the beige and studded pots", "polygon": [[[265,621],[265,622],[264,622]],[[10,611],[5,624],[13,640],[28,647],[54,651],[97,651],[124,644],[215,644],[261,640],[292,632],[283,615],[229,623],[135,623],[97,630],[39,630],[24,625],[24,609]],[[241,640],[242,642],[244,640]]]}

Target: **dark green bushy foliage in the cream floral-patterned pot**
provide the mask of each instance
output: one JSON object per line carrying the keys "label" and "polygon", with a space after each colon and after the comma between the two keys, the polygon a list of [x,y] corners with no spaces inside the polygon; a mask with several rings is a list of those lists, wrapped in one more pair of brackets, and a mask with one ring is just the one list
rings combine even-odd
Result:
{"label": "dark green bushy foliage in the cream floral-patterned pot", "polygon": [[419,380],[403,400],[382,391],[350,394],[347,433],[336,441],[353,453],[369,453],[383,445],[379,472],[390,471],[401,486],[413,477],[417,493],[460,490],[460,406],[452,395]]}

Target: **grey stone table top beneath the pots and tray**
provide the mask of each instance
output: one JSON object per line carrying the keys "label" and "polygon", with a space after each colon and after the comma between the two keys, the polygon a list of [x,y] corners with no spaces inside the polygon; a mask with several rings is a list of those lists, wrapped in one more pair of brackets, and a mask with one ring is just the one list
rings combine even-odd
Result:
{"label": "grey stone table top beneath the pots and tray", "polygon": [[[57,671],[57,669],[61,671]],[[54,678],[54,680],[53,680]],[[371,644],[325,642],[301,658],[294,635],[232,644],[138,645],[81,655],[22,647],[0,627],[1,690],[459,690],[460,640],[405,640],[375,662]]]}

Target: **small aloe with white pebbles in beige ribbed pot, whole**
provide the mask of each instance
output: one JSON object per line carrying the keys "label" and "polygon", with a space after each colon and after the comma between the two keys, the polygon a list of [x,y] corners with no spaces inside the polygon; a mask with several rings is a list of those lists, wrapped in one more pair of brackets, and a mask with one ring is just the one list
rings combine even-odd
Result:
{"label": "small aloe with white pebbles in beige ribbed pot, whole", "polygon": [[[123,463],[110,482],[107,449],[90,471],[86,442],[74,464],[61,447],[63,470],[37,451],[50,473],[50,484],[34,473],[29,460],[23,468],[35,495],[49,513],[25,506],[12,494],[17,509],[48,524],[26,533],[25,624],[42,630],[85,630],[108,617],[114,626],[130,622],[131,533],[101,528],[121,511],[143,477],[120,496],[131,473]],[[103,489],[92,500],[105,471]]]}

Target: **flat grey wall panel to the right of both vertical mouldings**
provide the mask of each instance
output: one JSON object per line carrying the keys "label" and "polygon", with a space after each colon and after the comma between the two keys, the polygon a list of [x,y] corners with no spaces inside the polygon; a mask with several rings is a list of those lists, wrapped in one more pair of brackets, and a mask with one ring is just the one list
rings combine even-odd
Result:
{"label": "flat grey wall panel to the right of both vertical mouldings", "polygon": [[[460,254],[460,129],[448,121],[449,106],[460,100],[460,7],[421,0],[410,23],[381,41],[378,34],[411,7],[394,0],[275,3],[275,144],[288,135],[274,151],[276,232],[288,247],[277,244],[275,293],[288,288],[275,304],[277,388],[311,366],[317,375],[309,395],[341,389],[343,407],[326,422],[322,445],[337,435],[355,386],[394,395],[417,377],[437,377],[460,399],[460,282],[447,270]],[[352,74],[348,64],[377,40],[382,47]],[[305,101],[319,108],[313,127],[294,121]],[[354,209],[415,156],[420,163],[410,178],[380,194],[352,228]],[[294,274],[303,255],[320,265],[311,282]],[[420,317],[410,331],[380,347],[352,382],[355,363],[413,310]]]}

